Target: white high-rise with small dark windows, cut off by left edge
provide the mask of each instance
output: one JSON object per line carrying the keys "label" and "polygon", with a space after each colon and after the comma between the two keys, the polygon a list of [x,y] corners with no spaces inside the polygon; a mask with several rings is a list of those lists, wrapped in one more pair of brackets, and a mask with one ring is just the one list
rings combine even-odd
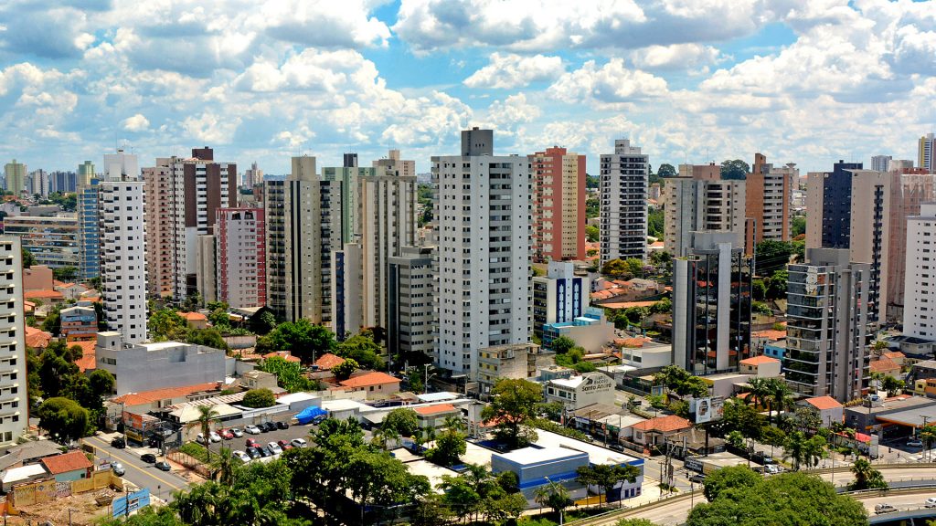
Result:
{"label": "white high-rise with small dark windows, cut off by left edge", "polygon": [[22,250],[19,238],[0,236],[0,446],[16,444],[29,420],[26,396],[26,328],[22,312]]}

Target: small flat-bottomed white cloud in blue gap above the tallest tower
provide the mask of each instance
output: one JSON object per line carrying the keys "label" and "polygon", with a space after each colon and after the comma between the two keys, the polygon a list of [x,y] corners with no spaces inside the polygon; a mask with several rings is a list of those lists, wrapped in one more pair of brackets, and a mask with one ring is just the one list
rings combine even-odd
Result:
{"label": "small flat-bottomed white cloud in blue gap above the tallest tower", "polygon": [[553,80],[564,71],[558,56],[520,56],[493,52],[490,64],[464,80],[469,88],[518,88],[540,80]]}

